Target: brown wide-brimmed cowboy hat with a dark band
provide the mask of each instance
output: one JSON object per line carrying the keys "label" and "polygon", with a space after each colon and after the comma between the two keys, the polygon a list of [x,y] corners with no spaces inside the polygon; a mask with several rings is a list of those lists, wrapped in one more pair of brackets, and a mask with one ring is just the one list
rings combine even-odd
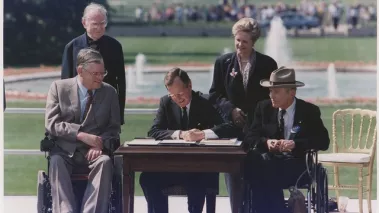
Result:
{"label": "brown wide-brimmed cowboy hat with a dark band", "polygon": [[274,70],[270,79],[263,79],[260,82],[262,87],[302,87],[303,82],[295,80],[295,70],[286,67],[279,67]]}

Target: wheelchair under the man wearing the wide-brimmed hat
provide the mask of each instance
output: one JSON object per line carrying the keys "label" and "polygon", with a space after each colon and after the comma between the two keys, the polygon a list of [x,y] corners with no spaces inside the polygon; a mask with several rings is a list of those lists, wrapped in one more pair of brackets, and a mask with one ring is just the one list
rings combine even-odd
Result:
{"label": "wheelchair under the man wearing the wide-brimmed hat", "polygon": [[[321,163],[318,163],[317,151],[307,151],[306,166],[307,170],[295,180],[295,184],[283,185],[283,190],[289,189],[292,186],[295,186],[297,189],[304,189],[306,190],[306,195],[304,196],[306,211],[308,213],[329,213],[327,170]],[[244,194],[244,197],[249,200],[248,203],[244,204],[247,205],[244,208],[247,208],[249,213],[253,213],[253,191],[251,186],[245,188]],[[285,203],[288,207],[288,200]]]}

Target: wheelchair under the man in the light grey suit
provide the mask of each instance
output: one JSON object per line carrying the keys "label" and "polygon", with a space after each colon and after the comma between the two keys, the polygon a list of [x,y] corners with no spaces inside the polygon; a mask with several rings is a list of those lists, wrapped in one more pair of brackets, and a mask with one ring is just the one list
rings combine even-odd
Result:
{"label": "wheelchair under the man in the light grey suit", "polygon": [[[114,139],[104,142],[104,149],[108,150],[109,157],[113,161],[114,172],[112,179],[112,189],[109,202],[109,213],[122,212],[122,159],[115,157],[113,152],[120,146],[120,140]],[[45,152],[45,157],[48,161],[47,172],[38,171],[38,186],[37,186],[37,212],[52,213],[52,196],[51,186],[49,182],[49,165],[50,157],[48,152],[54,147],[54,139],[48,133],[45,133],[45,138],[41,140],[40,150]],[[75,197],[77,198],[77,206],[81,206],[84,191],[87,187],[88,174],[72,174],[71,182]]]}

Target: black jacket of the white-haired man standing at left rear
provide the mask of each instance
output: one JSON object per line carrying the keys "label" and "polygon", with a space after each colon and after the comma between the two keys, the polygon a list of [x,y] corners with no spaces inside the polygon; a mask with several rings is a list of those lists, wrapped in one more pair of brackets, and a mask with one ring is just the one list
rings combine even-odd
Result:
{"label": "black jacket of the white-haired man standing at left rear", "polygon": [[[103,56],[105,69],[108,75],[105,76],[104,82],[112,85],[118,95],[120,104],[120,121],[124,124],[125,108],[125,65],[124,52],[121,44],[114,38],[104,35],[98,40],[100,54]],[[88,47],[86,33],[76,37],[66,45],[62,57],[62,74],[61,78],[72,78],[78,74],[76,70],[76,59],[81,49]]]}

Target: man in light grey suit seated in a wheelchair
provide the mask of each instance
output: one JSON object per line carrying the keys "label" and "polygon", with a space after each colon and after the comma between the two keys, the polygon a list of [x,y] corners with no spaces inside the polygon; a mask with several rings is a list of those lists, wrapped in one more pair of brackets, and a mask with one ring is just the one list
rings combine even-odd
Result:
{"label": "man in light grey suit seated in a wheelchair", "polygon": [[[82,49],[76,62],[78,76],[54,81],[46,102],[45,128],[55,139],[49,165],[53,212],[105,213],[112,161],[103,144],[119,138],[118,98],[116,90],[103,83],[107,71],[98,51]],[[71,185],[75,172],[89,172],[81,207]]]}

